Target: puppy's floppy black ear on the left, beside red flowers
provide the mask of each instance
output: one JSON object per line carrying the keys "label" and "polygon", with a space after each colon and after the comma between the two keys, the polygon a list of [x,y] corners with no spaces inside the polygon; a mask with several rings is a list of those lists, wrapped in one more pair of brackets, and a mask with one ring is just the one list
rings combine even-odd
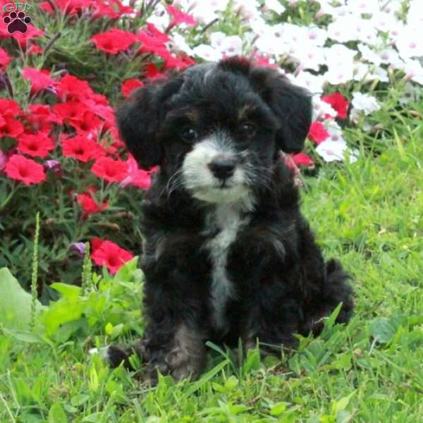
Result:
{"label": "puppy's floppy black ear on the left, beside red flowers", "polygon": [[181,84],[178,78],[172,78],[140,87],[116,114],[121,137],[141,168],[161,163],[163,146],[157,133],[164,118],[164,103]]}

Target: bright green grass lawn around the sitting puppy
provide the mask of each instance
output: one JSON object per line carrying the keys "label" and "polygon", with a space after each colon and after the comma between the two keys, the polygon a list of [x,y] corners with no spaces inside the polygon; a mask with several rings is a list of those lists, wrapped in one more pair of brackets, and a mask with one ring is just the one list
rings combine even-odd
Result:
{"label": "bright green grass lawn around the sitting puppy", "polygon": [[[348,326],[329,319],[319,338],[302,338],[281,360],[252,350],[238,364],[210,345],[200,381],[161,377],[157,388],[87,354],[118,334],[117,321],[104,329],[116,314],[90,314],[67,336],[0,328],[0,422],[422,422],[422,125],[394,118],[384,154],[324,166],[303,190],[326,257],[355,276]],[[102,304],[124,299],[121,290],[108,295]]]}

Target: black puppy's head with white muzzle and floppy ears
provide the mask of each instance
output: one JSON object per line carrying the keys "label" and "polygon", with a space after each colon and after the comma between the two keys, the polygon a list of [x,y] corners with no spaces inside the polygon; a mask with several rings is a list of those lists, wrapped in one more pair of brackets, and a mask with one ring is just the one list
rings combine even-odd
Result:
{"label": "black puppy's head with white muzzle and floppy ears", "polygon": [[231,58],[140,88],[118,111],[118,125],[140,166],[160,165],[169,188],[235,202],[269,183],[278,150],[302,149],[311,116],[305,90]]}

